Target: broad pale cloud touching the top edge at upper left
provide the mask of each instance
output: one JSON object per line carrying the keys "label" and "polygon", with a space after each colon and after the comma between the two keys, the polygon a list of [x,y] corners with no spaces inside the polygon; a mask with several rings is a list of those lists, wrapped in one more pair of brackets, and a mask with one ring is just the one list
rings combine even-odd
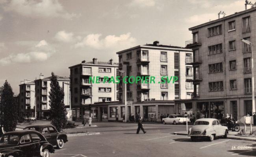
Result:
{"label": "broad pale cloud touching the top edge at upper left", "polygon": [[24,16],[62,17],[70,19],[76,14],[67,13],[58,0],[11,0],[2,5],[5,11],[15,11]]}

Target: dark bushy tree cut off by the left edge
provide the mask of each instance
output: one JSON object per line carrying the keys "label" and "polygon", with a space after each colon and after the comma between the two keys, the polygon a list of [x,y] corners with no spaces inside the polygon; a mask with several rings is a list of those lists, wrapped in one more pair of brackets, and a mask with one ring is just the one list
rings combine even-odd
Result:
{"label": "dark bushy tree cut off by the left edge", "polygon": [[4,131],[15,131],[18,118],[13,89],[6,80],[0,87],[0,124],[4,126]]}

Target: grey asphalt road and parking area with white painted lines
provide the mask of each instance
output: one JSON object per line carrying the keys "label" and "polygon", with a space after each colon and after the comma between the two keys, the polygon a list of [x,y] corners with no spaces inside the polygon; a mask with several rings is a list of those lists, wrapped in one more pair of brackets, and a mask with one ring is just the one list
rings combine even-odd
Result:
{"label": "grey asphalt road and parking area with white painted lines", "polygon": [[[94,123],[95,124],[95,123]],[[216,139],[191,142],[184,135],[170,133],[186,130],[184,125],[145,124],[146,134],[136,133],[137,124],[97,123],[88,132],[100,135],[69,137],[63,149],[51,157],[223,157],[256,156],[255,142]],[[81,129],[83,130],[83,129]],[[232,150],[250,146],[248,150]],[[234,149],[234,148],[233,148]]]}

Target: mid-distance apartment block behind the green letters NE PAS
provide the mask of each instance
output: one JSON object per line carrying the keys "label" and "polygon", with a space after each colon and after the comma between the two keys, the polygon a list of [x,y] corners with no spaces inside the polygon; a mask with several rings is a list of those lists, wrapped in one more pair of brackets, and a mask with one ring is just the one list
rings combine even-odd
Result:
{"label": "mid-distance apartment block behind the green letters NE PAS", "polygon": [[[117,93],[118,84],[104,83],[104,76],[116,77],[118,63],[113,59],[109,62],[82,61],[82,63],[70,66],[70,91],[73,120],[81,120],[83,115],[91,116],[93,121],[107,121],[108,107],[105,103],[119,100]],[[98,83],[89,83],[89,77],[99,77]],[[100,104],[95,104],[100,102]],[[91,115],[90,115],[91,114]]]}

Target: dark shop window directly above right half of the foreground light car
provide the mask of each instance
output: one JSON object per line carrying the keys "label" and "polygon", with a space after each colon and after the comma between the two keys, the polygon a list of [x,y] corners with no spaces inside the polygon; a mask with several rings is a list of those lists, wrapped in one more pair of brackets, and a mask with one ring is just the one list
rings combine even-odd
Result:
{"label": "dark shop window directly above right half of the foreground light car", "polygon": [[224,115],[223,102],[210,102],[211,104],[211,116],[210,118],[222,119]]}

